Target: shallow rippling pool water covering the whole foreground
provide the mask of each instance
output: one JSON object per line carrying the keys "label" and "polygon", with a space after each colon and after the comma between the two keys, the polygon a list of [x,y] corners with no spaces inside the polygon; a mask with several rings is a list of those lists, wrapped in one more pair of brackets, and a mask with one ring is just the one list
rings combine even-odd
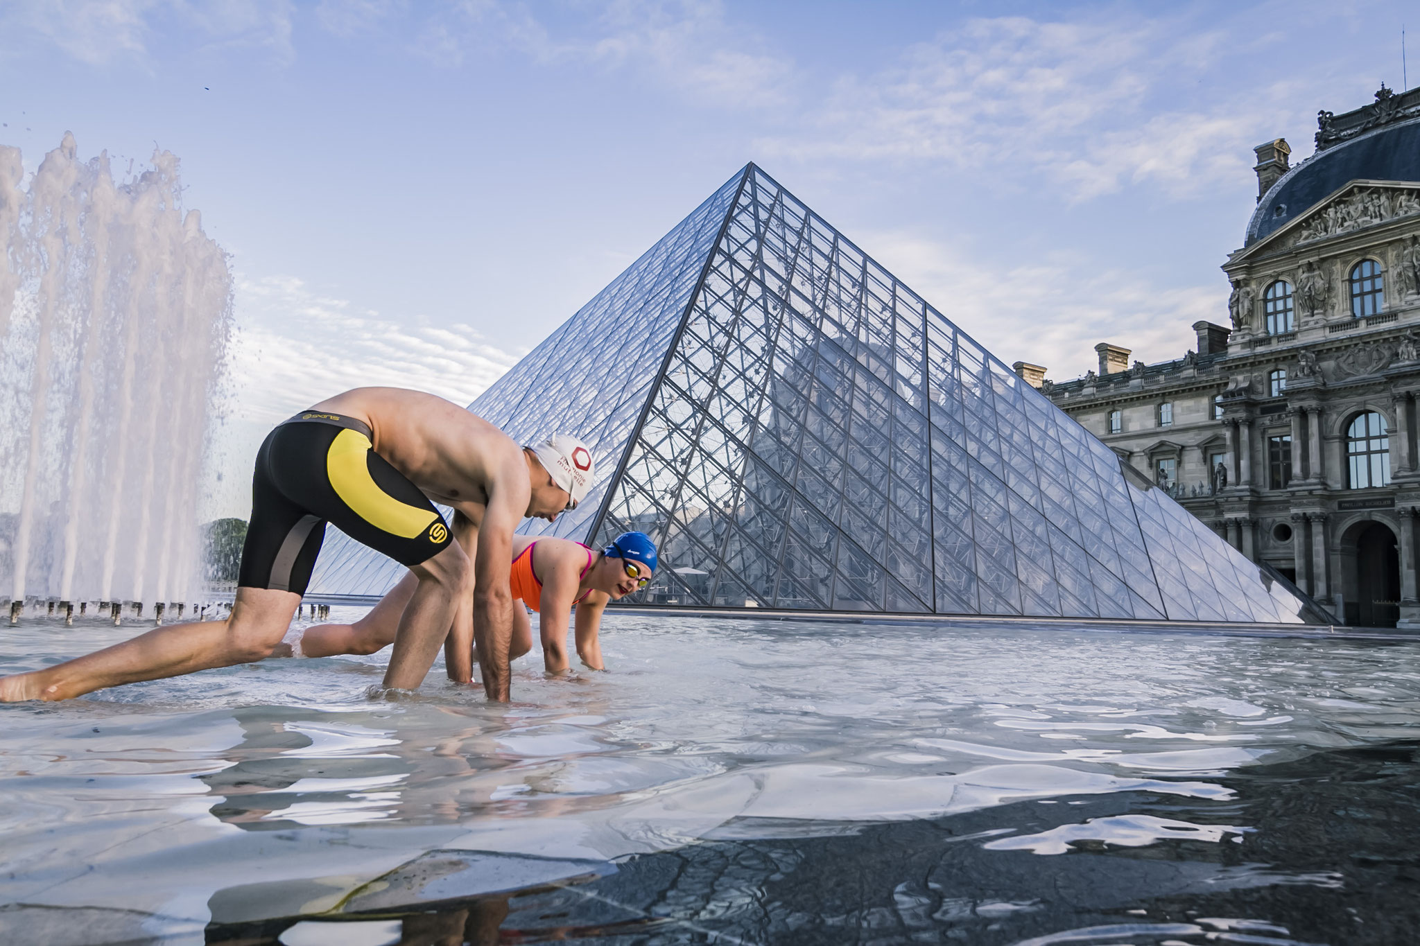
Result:
{"label": "shallow rippling pool water covering the whole foreground", "polygon": [[[337,608],[339,617],[339,608]],[[0,671],[138,628],[0,628]],[[613,614],[0,706],[0,940],[1386,943],[1420,644]]]}

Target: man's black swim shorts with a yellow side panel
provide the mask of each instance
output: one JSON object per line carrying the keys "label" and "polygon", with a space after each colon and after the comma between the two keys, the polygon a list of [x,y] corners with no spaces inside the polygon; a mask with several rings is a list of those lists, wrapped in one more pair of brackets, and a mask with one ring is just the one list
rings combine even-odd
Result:
{"label": "man's black swim shorts with a yellow side panel", "polygon": [[327,522],[405,566],[449,545],[443,516],[369,434],[354,417],[305,411],[267,435],[237,584],[304,594]]}

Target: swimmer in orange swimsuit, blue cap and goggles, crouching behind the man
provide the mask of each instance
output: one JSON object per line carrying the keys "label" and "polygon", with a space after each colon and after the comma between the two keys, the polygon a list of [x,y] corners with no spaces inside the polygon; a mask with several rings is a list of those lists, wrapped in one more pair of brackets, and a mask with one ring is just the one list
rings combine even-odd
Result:
{"label": "swimmer in orange swimsuit, blue cap and goggles, crouching behind the man", "polygon": [[[646,587],[656,572],[656,546],[643,532],[623,532],[601,552],[567,539],[513,536],[513,644],[510,660],[532,650],[532,627],[518,603],[538,613],[538,637],[542,640],[542,665],[550,674],[565,674],[567,618],[577,607],[577,654],[591,669],[602,664],[599,631],[606,603]],[[355,624],[320,624],[308,627],[287,647],[293,657],[335,657],[337,654],[373,654],[396,640],[395,625],[405,603],[415,591],[413,576],[406,574]],[[278,648],[273,657],[284,657]]]}

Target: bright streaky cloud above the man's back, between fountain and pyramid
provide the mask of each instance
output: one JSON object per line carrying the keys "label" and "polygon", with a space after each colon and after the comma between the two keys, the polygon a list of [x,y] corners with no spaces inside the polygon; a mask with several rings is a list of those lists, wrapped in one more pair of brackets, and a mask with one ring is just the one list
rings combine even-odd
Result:
{"label": "bright streaky cloud above the man's back, between fountain and pyramid", "polygon": [[239,279],[233,416],[274,424],[362,386],[415,387],[467,404],[518,357],[469,325],[396,322],[291,277]]}

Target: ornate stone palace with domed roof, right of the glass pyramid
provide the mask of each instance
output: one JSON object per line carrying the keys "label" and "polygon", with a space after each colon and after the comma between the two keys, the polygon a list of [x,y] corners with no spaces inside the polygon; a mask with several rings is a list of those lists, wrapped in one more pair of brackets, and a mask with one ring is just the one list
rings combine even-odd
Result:
{"label": "ornate stone palace with domed roof, right of the glass pyramid", "polygon": [[1255,149],[1231,328],[1197,322],[1197,347],[1159,365],[1103,343],[1098,372],[1039,383],[1338,623],[1420,627],[1420,89],[1318,125],[1301,165],[1285,140]]}

